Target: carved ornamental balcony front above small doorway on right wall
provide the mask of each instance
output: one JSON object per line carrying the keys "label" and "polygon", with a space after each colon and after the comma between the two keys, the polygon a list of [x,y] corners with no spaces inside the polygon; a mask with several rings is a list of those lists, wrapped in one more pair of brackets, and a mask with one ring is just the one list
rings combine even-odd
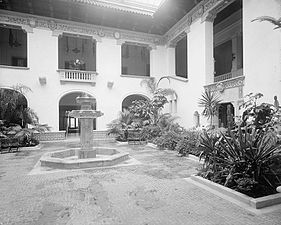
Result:
{"label": "carved ornamental balcony front above small doorway on right wall", "polygon": [[204,86],[205,90],[211,92],[223,92],[225,89],[243,87],[244,86],[244,76],[235,77],[229,80],[224,80],[219,83],[213,83]]}

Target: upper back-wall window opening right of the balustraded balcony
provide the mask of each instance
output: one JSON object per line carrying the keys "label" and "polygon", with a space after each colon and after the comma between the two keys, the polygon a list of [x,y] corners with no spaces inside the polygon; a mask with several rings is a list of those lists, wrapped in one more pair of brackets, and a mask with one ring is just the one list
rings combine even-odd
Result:
{"label": "upper back-wall window opening right of the balustraded balcony", "polygon": [[122,75],[150,76],[150,49],[146,45],[122,44]]}

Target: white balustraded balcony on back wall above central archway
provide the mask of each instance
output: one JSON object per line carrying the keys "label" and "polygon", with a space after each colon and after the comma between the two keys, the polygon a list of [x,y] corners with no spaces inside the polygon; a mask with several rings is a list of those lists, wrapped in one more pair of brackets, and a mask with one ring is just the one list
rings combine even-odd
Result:
{"label": "white balustraded balcony on back wall above central archway", "polygon": [[96,76],[98,75],[95,71],[82,71],[82,70],[66,70],[59,69],[57,70],[60,75],[60,82],[62,84],[66,82],[82,82],[90,83],[93,86],[95,85]]}

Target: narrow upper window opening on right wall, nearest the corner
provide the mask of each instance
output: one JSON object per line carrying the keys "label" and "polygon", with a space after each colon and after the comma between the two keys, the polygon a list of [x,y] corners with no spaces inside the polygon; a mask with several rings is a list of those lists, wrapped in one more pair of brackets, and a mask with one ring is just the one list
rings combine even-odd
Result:
{"label": "narrow upper window opening on right wall, nearest the corner", "polygon": [[176,75],[187,78],[187,36],[177,42],[175,48]]}

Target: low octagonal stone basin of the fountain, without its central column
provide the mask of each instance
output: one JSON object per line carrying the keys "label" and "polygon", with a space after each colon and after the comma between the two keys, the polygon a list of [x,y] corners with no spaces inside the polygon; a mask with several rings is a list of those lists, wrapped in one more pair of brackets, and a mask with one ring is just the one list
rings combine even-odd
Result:
{"label": "low octagonal stone basin of the fountain, without its central column", "polygon": [[54,169],[82,169],[113,166],[129,159],[129,153],[117,151],[114,148],[93,147],[96,157],[79,159],[80,148],[71,148],[62,151],[48,152],[40,158],[41,166]]}

